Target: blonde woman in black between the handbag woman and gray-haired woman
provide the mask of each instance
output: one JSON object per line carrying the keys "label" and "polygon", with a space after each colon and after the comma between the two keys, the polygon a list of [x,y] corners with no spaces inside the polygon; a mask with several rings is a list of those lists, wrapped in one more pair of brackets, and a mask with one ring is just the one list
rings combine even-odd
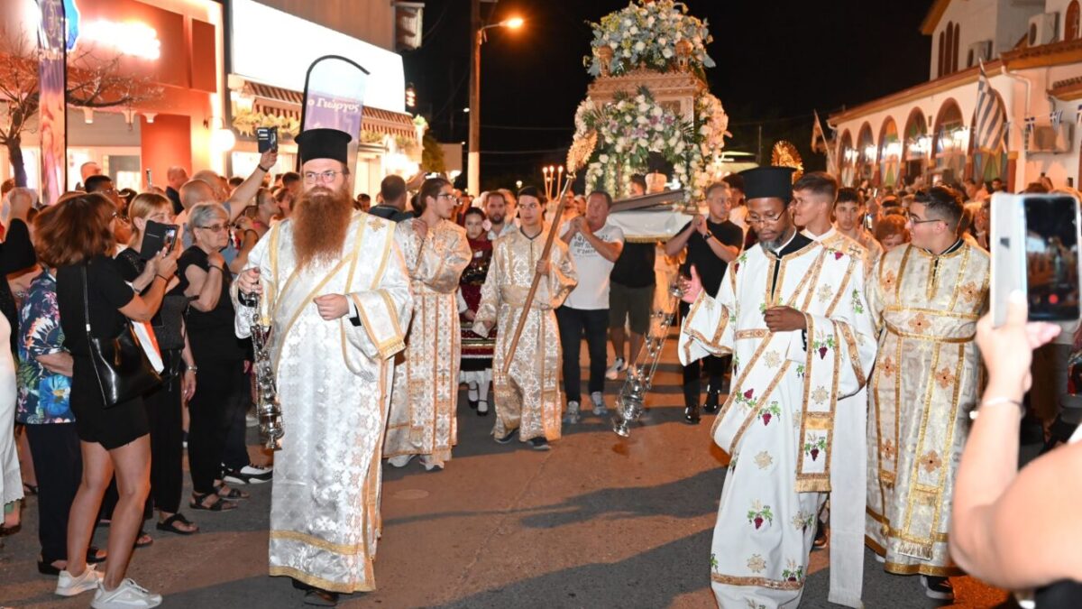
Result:
{"label": "blonde woman in black between the handbag woman and gray-haired woman", "polygon": [[[173,205],[163,195],[141,193],[128,208],[132,223],[132,237],[128,248],[117,255],[120,275],[141,294],[148,289],[150,280],[146,276],[146,260],[140,252],[148,222],[171,224]],[[180,238],[180,235],[177,235]],[[171,248],[177,251],[175,245]],[[177,284],[174,277],[169,289]],[[199,530],[180,513],[181,489],[184,484],[183,456],[184,401],[196,390],[196,364],[192,357],[184,332],[184,312],[188,300],[182,294],[167,293],[161,300],[161,310],[150,321],[155,340],[161,350],[166,366],[162,385],[143,397],[146,414],[150,423],[150,500],[158,509],[159,531],[189,535]]]}

